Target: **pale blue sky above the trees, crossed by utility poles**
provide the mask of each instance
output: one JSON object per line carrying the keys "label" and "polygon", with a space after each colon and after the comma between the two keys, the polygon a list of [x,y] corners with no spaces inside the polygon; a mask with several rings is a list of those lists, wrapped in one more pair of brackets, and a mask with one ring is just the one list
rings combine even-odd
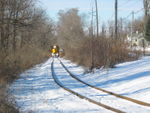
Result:
{"label": "pale blue sky above the trees, crossed by utility poles", "polygon": [[[97,0],[99,21],[107,22],[114,20],[114,4],[115,0]],[[94,5],[94,0],[39,0],[39,4],[47,12],[47,15],[52,19],[58,19],[59,10],[67,10],[70,8],[78,8],[80,14],[87,14],[91,17],[91,9]],[[131,12],[136,12],[135,18],[143,15],[143,0],[118,0],[118,16],[131,19]]]}

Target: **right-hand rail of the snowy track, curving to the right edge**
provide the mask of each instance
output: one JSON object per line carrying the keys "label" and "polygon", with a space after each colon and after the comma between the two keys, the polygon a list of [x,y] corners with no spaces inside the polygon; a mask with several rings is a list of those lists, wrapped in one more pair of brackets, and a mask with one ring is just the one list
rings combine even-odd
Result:
{"label": "right-hand rail of the snowy track, curving to the right edge", "polygon": [[69,73],[69,75],[70,75],[72,78],[76,79],[77,81],[79,81],[79,82],[81,82],[81,83],[83,83],[83,84],[85,84],[85,85],[87,85],[87,86],[89,86],[89,87],[91,87],[91,88],[94,88],[94,89],[96,89],[96,90],[99,90],[99,91],[102,91],[102,92],[104,92],[104,93],[113,95],[113,96],[115,96],[115,97],[118,97],[118,98],[121,98],[121,99],[130,101],[130,102],[133,102],[133,103],[142,105],[142,106],[150,107],[150,103],[146,103],[146,102],[139,101],[139,100],[136,100],[136,99],[133,99],[133,98],[130,98],[130,97],[122,96],[122,95],[113,93],[113,92],[111,92],[111,91],[107,91],[107,90],[105,90],[105,89],[95,87],[95,86],[93,86],[93,85],[91,85],[91,84],[88,84],[88,83],[82,81],[82,80],[79,79],[77,76],[75,76],[74,74],[72,74],[72,73],[67,69],[67,67],[63,64],[63,62],[62,62],[60,59],[58,59],[58,60],[60,61],[61,65],[64,67],[64,69]]}

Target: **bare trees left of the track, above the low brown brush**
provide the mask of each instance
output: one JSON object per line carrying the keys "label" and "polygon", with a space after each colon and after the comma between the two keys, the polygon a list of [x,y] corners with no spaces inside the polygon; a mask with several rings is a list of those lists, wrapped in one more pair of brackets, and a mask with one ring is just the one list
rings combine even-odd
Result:
{"label": "bare trees left of the track, above the low brown brush", "polygon": [[[45,11],[35,6],[35,0],[0,0],[0,49],[16,52],[25,44],[45,43],[52,35],[52,24]],[[40,31],[40,32],[39,32]],[[44,36],[44,34],[46,34]],[[49,41],[48,41],[49,42]]]}

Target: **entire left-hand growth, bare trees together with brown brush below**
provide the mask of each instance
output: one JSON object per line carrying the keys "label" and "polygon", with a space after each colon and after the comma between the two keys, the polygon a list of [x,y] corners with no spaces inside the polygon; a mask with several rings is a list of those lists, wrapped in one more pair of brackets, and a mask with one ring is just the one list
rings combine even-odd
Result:
{"label": "entire left-hand growth, bare trees together with brown brush below", "polygon": [[0,112],[17,113],[7,85],[49,57],[54,25],[36,0],[0,0]]}

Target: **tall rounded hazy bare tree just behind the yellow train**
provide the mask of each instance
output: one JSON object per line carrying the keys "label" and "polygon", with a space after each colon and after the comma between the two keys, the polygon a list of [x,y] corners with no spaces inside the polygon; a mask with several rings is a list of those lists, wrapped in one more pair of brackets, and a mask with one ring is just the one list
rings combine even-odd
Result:
{"label": "tall rounded hazy bare tree just behind the yellow train", "polygon": [[58,37],[61,45],[76,48],[84,37],[82,19],[77,9],[59,12]]}

